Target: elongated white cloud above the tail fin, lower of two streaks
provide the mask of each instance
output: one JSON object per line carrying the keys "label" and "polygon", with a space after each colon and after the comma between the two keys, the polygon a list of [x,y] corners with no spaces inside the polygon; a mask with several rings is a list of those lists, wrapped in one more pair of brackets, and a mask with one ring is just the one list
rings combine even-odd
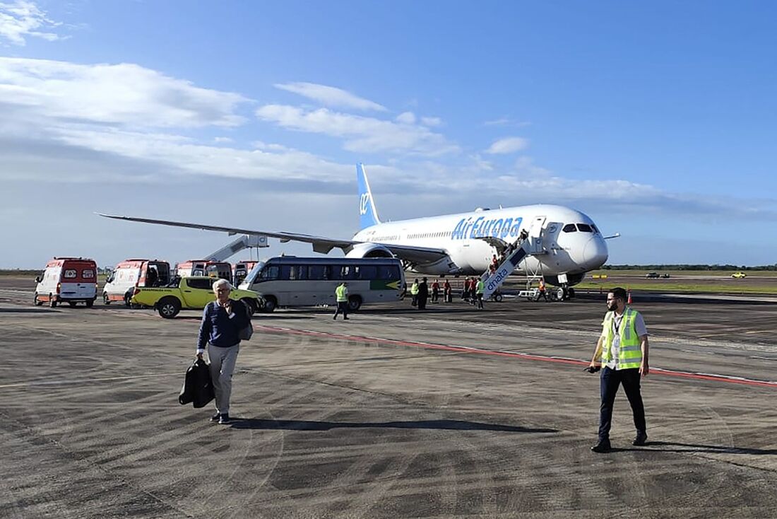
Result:
{"label": "elongated white cloud above the tail fin, lower of two streaks", "polygon": [[458,151],[443,135],[413,124],[333,112],[326,108],[268,104],[256,116],[298,132],[320,133],[347,139],[343,147],[360,153],[409,152],[437,156]]}

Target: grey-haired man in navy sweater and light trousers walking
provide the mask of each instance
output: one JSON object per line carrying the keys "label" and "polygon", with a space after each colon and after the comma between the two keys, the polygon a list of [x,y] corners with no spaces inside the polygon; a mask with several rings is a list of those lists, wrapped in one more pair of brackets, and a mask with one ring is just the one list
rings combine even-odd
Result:
{"label": "grey-haired man in navy sweater and light trousers walking", "polygon": [[229,423],[232,373],[240,350],[239,332],[250,324],[246,305],[229,299],[231,291],[232,285],[226,279],[213,283],[216,300],[205,306],[197,338],[197,359],[202,359],[207,343],[207,356],[211,360],[211,381],[216,393],[216,414],[211,416],[211,422],[221,424]]}

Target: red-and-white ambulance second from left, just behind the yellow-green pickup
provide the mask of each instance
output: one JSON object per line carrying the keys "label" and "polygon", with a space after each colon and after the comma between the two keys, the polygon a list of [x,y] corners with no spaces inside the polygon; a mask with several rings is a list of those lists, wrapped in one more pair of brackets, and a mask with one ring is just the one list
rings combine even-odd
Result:
{"label": "red-and-white ambulance second from left, just behind the yellow-green pickup", "polygon": [[124,302],[130,299],[138,286],[165,286],[170,282],[170,264],[167,261],[127,259],[122,261],[103,287],[103,303]]}

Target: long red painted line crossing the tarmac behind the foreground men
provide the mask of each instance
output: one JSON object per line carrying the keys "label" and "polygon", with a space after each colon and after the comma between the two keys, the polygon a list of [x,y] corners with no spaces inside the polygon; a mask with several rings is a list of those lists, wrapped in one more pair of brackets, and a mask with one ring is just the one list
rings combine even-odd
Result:
{"label": "long red painted line crossing the tarmac behind the foreground men", "polygon": [[[493,355],[501,357],[510,357],[513,359],[535,360],[538,362],[573,364],[575,366],[588,366],[588,362],[579,359],[568,359],[566,357],[534,355],[531,353],[503,352],[493,349],[472,348],[469,346],[456,346],[433,344],[430,342],[412,342],[400,341],[392,338],[362,337],[359,335],[342,335],[337,333],[327,333],[325,331],[294,330],[291,328],[277,328],[274,326],[254,326],[255,329],[269,331],[270,333],[287,333],[291,335],[308,335],[313,337],[334,338],[342,341],[351,342],[378,342],[380,344],[390,344],[395,346],[409,346],[413,348],[437,349],[448,352],[475,353],[477,355]],[[731,377],[727,375],[717,375],[714,373],[692,373],[690,371],[665,370],[664,368],[650,368],[651,374],[664,375],[667,377],[681,377],[695,380],[712,380],[714,382],[726,382],[728,384],[741,384],[757,387],[772,387],[777,389],[777,382],[772,380],[754,380],[743,377]]]}

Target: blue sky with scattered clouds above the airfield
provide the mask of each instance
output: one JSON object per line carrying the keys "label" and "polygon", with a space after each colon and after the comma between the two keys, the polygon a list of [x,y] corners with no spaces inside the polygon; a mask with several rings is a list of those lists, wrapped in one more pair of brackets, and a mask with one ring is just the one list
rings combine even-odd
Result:
{"label": "blue sky with scattered clouds above the airfield", "polygon": [[350,237],[357,162],[384,219],[559,203],[610,263],[773,264],[775,14],[0,0],[0,268],[228,240],[95,211]]}

